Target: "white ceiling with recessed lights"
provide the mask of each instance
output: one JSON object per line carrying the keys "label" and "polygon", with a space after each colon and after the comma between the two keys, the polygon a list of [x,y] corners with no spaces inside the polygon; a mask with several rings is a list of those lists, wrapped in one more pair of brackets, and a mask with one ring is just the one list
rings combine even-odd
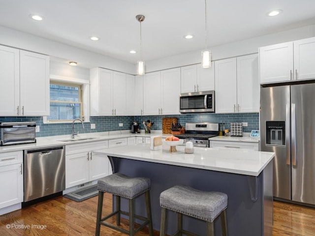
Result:
{"label": "white ceiling with recessed lights", "polygon": [[[205,48],[204,0],[0,0],[0,25],[136,63]],[[282,9],[276,17],[266,13]],[[44,16],[34,21],[29,15]],[[207,0],[208,47],[315,24],[315,0]],[[194,38],[185,39],[184,35]],[[90,36],[100,40],[92,41]]]}

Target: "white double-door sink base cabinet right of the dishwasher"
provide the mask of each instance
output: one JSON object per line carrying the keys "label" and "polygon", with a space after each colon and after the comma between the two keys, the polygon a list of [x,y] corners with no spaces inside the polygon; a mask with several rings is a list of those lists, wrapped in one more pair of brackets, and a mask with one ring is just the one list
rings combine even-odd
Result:
{"label": "white double-door sink base cabinet right of the dishwasher", "polygon": [[109,160],[94,150],[108,148],[108,141],[72,144],[65,147],[65,188],[109,175]]}

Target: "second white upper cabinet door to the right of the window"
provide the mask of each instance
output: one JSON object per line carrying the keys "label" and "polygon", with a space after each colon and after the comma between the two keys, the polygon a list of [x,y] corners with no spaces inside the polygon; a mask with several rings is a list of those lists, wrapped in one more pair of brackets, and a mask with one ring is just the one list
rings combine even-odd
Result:
{"label": "second white upper cabinet door to the right of the window", "polygon": [[113,72],[113,109],[115,116],[126,115],[127,102],[126,74]]}

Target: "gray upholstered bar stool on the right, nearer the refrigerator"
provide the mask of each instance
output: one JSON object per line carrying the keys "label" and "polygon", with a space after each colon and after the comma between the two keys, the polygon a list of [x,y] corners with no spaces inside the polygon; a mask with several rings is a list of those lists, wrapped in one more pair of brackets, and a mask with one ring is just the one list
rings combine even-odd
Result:
{"label": "gray upholstered bar stool on the right, nearer the refrigerator", "polygon": [[182,229],[183,215],[189,215],[207,222],[207,236],[214,236],[214,220],[220,216],[222,235],[227,236],[227,195],[221,192],[204,192],[184,185],[176,185],[160,194],[161,208],[160,236],[165,236],[167,209],[178,214],[177,231],[173,235],[197,236]]}

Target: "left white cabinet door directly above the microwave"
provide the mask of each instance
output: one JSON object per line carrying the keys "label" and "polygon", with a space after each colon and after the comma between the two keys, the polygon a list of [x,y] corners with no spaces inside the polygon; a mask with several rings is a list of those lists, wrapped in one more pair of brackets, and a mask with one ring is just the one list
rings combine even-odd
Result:
{"label": "left white cabinet door directly above the microwave", "polygon": [[197,91],[197,66],[181,67],[181,93]]}

